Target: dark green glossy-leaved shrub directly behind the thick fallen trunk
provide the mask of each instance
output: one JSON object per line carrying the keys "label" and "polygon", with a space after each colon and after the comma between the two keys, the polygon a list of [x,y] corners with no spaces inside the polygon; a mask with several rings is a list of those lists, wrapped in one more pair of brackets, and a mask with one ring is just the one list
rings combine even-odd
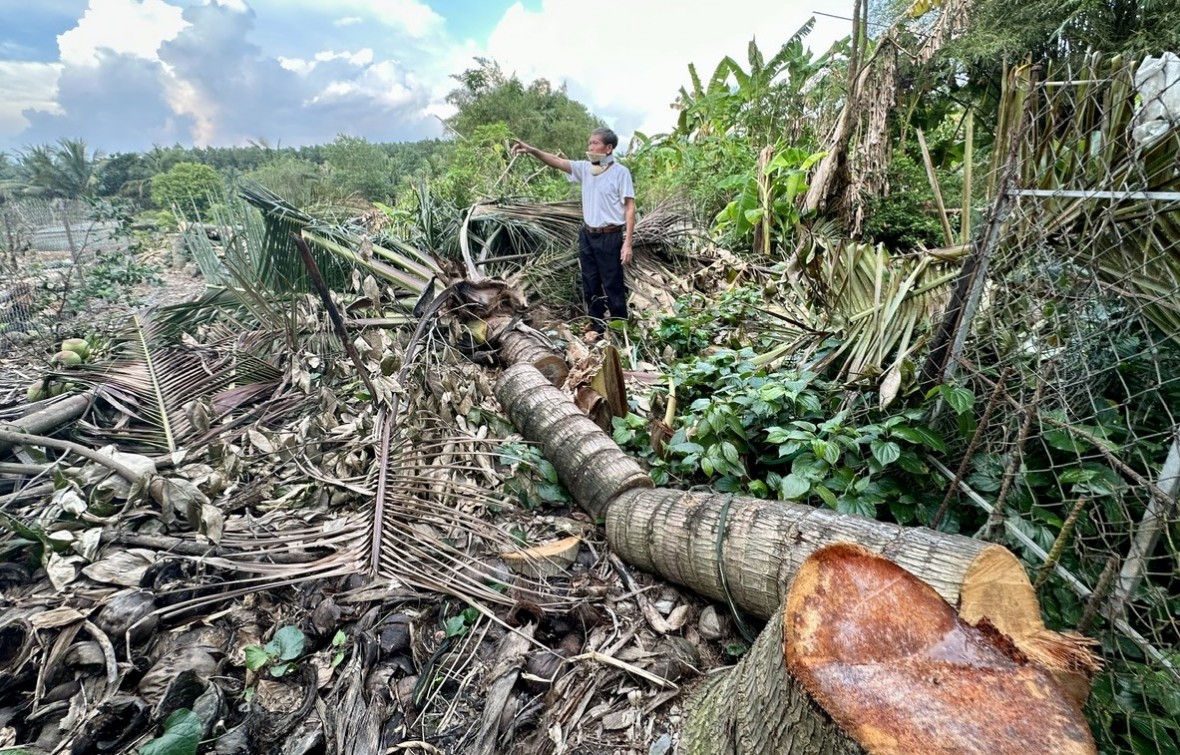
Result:
{"label": "dark green glossy-leaved shrub directly behind the thick fallen trunk", "polygon": [[707,482],[899,524],[930,520],[940,491],[924,455],[948,447],[927,413],[950,392],[968,411],[970,392],[938,389],[923,406],[896,412],[847,407],[841,386],[814,373],[767,372],[754,360],[749,349],[721,350],[673,369],[689,411],[663,458],[637,416],[615,421],[616,442],[648,459],[657,485]]}

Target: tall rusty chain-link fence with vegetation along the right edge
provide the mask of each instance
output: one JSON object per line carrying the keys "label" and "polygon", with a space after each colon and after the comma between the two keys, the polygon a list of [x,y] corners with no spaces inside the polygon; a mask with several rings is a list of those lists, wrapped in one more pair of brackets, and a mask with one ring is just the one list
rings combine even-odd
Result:
{"label": "tall rusty chain-link fence with vegetation along the right edge", "polygon": [[1099,638],[1100,748],[1176,753],[1180,60],[1022,68],[1005,109],[995,232],[933,366],[978,401],[949,503]]}

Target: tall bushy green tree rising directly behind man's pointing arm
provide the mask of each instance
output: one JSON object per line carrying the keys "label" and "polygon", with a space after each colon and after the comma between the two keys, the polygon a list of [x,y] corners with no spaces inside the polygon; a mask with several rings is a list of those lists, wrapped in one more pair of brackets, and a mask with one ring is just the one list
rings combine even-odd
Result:
{"label": "tall bushy green tree rising directly behind man's pointing arm", "polygon": [[459,86],[446,97],[458,109],[446,125],[460,138],[471,137],[480,126],[504,123],[518,139],[578,156],[585,151],[586,136],[605,125],[570,99],[564,85],[553,87],[546,79],[524,84],[516,74],[505,74],[494,60],[476,61],[478,67],[452,77]]}

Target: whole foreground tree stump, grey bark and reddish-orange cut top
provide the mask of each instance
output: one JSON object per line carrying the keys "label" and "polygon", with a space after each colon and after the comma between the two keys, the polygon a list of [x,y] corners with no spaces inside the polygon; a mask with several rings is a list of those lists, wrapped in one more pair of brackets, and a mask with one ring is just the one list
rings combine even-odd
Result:
{"label": "whole foreground tree stump, grey bark and reddish-orange cut top", "polygon": [[687,709],[688,755],[1096,751],[1051,675],[848,544],[804,562],[749,652]]}

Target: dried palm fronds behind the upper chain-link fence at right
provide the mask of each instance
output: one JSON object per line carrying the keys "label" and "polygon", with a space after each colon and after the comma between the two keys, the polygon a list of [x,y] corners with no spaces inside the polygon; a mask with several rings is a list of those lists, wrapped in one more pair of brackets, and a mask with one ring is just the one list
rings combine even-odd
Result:
{"label": "dried palm fronds behind the upper chain-link fence at right", "polygon": [[[1180,130],[1139,144],[1136,64],[1090,55],[1081,71],[1051,71],[1070,86],[1008,86],[1004,105],[1032,98],[1034,117],[1018,139],[1022,199],[1005,232],[1012,249],[1048,244],[1060,260],[1097,273],[1110,294],[1134,302],[1180,340]],[[1160,192],[1155,197],[1143,192]],[[1084,242],[1084,243],[1080,243]],[[1011,256],[1010,264],[1020,264]]]}

